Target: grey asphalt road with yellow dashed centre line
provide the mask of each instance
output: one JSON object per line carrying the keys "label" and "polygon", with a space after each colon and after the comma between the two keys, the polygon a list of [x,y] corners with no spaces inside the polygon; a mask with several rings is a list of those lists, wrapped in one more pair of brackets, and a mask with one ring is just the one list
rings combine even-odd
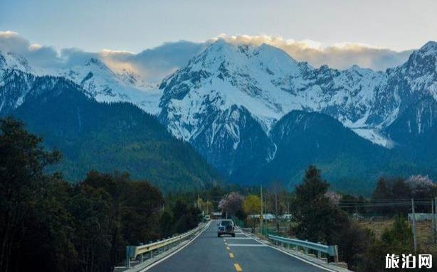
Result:
{"label": "grey asphalt road with yellow dashed centre line", "polygon": [[236,237],[217,237],[216,222],[211,222],[199,237],[188,246],[149,267],[148,271],[288,271],[326,272],[305,263],[256,239],[236,232]]}

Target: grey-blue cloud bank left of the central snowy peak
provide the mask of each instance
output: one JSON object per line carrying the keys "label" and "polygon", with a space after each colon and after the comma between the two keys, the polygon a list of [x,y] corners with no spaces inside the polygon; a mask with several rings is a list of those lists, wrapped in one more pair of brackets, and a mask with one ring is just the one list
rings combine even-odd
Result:
{"label": "grey-blue cloud bank left of the central snowy peak", "polygon": [[33,67],[43,68],[43,72],[51,73],[53,69],[60,67],[83,65],[90,58],[98,58],[114,72],[130,70],[142,76],[146,82],[154,83],[158,83],[162,78],[185,65],[204,46],[204,43],[179,41],[164,43],[157,48],[147,49],[138,54],[110,49],[93,53],[79,48],[64,48],[57,52],[51,46],[31,44],[19,33],[0,31],[2,52],[22,55]]}

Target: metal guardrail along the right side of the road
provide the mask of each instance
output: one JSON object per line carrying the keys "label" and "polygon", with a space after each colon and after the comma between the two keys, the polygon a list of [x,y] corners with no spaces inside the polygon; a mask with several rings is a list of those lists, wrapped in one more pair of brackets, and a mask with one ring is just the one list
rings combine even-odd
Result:
{"label": "metal guardrail along the right side of the road", "polygon": [[314,251],[317,251],[317,257],[321,258],[322,253],[325,253],[329,256],[334,256],[334,261],[338,262],[338,246],[327,246],[320,243],[313,243],[311,241],[302,241],[299,239],[291,239],[286,238],[282,236],[276,236],[272,234],[268,234],[268,238],[272,241],[275,241],[275,243],[282,243],[282,244],[288,244],[291,246],[295,246],[296,249],[299,249],[299,247],[302,247],[305,250],[305,254],[308,254],[309,249],[312,249]]}

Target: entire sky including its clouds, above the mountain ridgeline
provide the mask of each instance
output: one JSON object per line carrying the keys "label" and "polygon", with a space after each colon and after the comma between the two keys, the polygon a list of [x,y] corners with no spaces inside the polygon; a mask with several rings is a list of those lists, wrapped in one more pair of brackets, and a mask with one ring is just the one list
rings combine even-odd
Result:
{"label": "entire sky including its clouds, above the mountain ridgeline", "polygon": [[0,0],[0,50],[47,67],[95,55],[114,68],[147,60],[143,70],[159,79],[199,43],[225,38],[268,43],[314,67],[385,70],[437,40],[436,14],[436,0]]}

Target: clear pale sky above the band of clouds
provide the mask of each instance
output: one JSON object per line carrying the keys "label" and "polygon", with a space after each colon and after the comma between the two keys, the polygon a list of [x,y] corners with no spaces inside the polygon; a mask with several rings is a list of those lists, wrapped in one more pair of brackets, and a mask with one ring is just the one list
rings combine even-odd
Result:
{"label": "clear pale sky above the band of clouds", "polygon": [[435,0],[0,1],[0,30],[32,43],[139,52],[168,41],[280,36],[391,50],[437,40]]}

